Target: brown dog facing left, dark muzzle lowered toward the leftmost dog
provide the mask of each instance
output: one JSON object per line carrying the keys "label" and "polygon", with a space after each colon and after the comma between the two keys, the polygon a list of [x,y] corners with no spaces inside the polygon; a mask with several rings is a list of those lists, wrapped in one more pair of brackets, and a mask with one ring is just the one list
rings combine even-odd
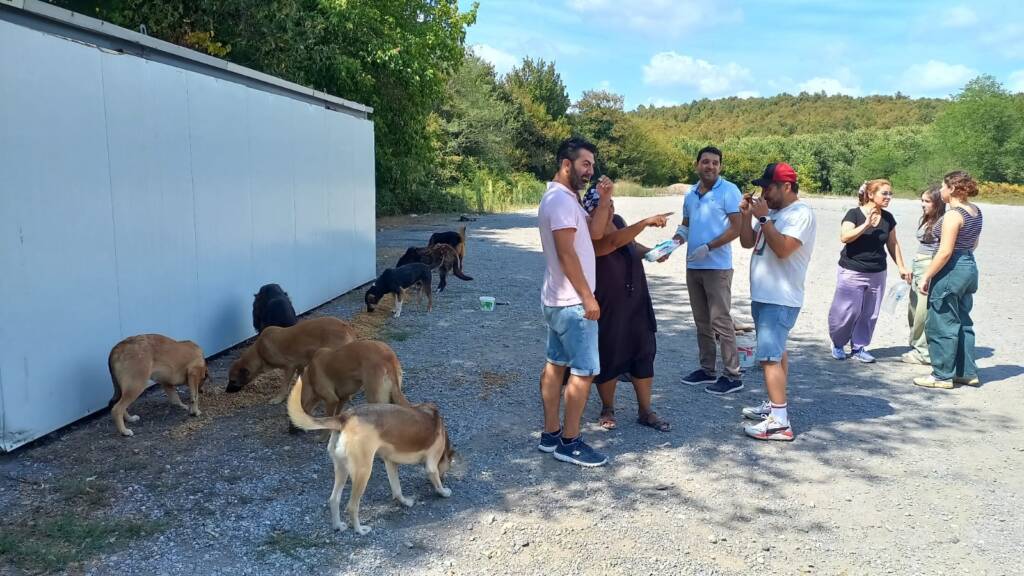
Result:
{"label": "brown dog facing left, dark muzzle lowered toward the leftmost dog", "polygon": [[332,317],[303,320],[295,326],[267,326],[253,345],[239,357],[227,371],[225,392],[236,393],[264,370],[284,368],[281,392],[270,404],[281,404],[296,374],[309,364],[319,348],[336,348],[355,340],[355,330],[348,323]]}

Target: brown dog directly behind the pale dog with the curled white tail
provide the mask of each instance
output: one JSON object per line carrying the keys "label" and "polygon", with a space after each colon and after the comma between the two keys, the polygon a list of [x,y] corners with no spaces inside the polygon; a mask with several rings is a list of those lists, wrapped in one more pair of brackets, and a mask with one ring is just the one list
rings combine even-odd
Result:
{"label": "brown dog directly behind the pale dog with the curled white tail", "polygon": [[371,404],[409,406],[401,393],[401,364],[391,346],[357,340],[338,348],[321,348],[302,372],[302,409],[324,402],[328,416],[345,407],[361,388]]}

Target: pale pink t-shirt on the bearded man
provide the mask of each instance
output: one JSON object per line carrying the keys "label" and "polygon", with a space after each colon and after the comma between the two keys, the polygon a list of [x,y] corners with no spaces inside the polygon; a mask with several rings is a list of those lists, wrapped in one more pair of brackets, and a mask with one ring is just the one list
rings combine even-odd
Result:
{"label": "pale pink t-shirt on the bearded man", "polygon": [[544,270],[544,288],[541,289],[541,302],[546,306],[570,306],[582,303],[572,283],[565,278],[562,264],[558,261],[555,251],[556,230],[575,229],[577,257],[587,278],[587,285],[593,292],[597,278],[594,243],[590,240],[590,217],[580,205],[575,193],[558,182],[548,182],[548,192],[541,199],[541,207],[537,214],[538,227],[541,229],[541,246],[544,248],[544,259],[547,265]]}

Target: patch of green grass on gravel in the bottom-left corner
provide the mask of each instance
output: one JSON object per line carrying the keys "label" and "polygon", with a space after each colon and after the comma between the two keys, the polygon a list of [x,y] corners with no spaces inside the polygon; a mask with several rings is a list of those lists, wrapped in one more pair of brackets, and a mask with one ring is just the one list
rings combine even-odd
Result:
{"label": "patch of green grass on gravel in the bottom-left corner", "polygon": [[14,525],[0,524],[0,561],[19,570],[55,572],[122,549],[132,540],[151,536],[164,528],[161,522],[98,520],[75,515]]}

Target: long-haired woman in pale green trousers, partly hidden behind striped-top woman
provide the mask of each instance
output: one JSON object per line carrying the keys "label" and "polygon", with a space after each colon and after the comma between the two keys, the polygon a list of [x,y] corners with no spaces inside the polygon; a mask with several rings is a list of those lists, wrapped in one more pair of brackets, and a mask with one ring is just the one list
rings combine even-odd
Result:
{"label": "long-haired woman in pale green trousers, partly hidden behind striped-top woman", "polygon": [[928,337],[925,335],[925,321],[928,319],[928,295],[921,292],[921,276],[932,263],[939,249],[939,237],[935,234],[936,222],[946,212],[942,201],[942,187],[933,186],[921,195],[921,220],[918,222],[918,253],[913,255],[913,281],[910,283],[910,305],[907,322],[910,324],[910,345],[913,349],[904,354],[901,360],[907,364],[931,364],[928,354]]}

